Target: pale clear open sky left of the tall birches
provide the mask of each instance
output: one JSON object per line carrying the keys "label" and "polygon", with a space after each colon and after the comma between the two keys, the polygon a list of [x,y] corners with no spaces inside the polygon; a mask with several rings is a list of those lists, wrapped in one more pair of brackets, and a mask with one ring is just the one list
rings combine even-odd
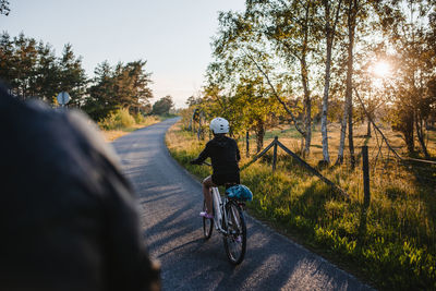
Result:
{"label": "pale clear open sky left of the tall birches", "polygon": [[157,99],[170,95],[177,108],[197,94],[213,60],[210,41],[219,11],[242,11],[245,0],[9,0],[0,29],[11,37],[50,44],[60,56],[65,44],[82,56],[93,76],[98,63],[146,60]]}

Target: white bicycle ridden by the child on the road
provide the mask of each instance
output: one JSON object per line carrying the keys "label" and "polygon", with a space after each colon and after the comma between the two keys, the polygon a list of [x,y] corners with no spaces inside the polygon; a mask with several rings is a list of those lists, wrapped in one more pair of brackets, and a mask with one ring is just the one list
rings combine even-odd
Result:
{"label": "white bicycle ridden by the child on the road", "polygon": [[[245,204],[228,197],[227,192],[221,196],[218,187],[211,187],[211,195],[214,218],[203,217],[203,234],[206,240],[210,239],[215,226],[215,229],[222,234],[230,263],[239,265],[244,259],[246,251],[246,226],[243,215]],[[206,211],[206,201],[203,203],[203,211]]]}

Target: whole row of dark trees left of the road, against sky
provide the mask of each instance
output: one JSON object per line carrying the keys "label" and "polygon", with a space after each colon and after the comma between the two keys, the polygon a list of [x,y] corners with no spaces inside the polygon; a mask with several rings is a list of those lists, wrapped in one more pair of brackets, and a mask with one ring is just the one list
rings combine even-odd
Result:
{"label": "whole row of dark trees left of the road, against sky", "polygon": [[104,61],[88,80],[82,58],[75,56],[70,44],[57,57],[49,44],[24,34],[0,36],[0,78],[13,95],[56,104],[56,96],[68,92],[69,106],[85,110],[96,121],[122,108],[136,114],[150,111],[152,74],[145,66],[144,60],[113,66]]}

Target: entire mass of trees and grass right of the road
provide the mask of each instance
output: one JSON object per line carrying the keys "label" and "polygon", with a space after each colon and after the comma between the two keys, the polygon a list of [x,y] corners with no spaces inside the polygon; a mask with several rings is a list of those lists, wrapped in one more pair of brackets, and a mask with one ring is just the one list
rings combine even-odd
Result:
{"label": "entire mass of trees and grass right of the road", "polygon": [[275,172],[271,151],[242,171],[251,214],[382,290],[436,290],[436,3],[246,1],[218,21],[205,86],[167,137],[174,158],[208,173],[187,161],[215,117],[243,151],[249,136],[242,165],[277,135],[348,195],[279,149]]}

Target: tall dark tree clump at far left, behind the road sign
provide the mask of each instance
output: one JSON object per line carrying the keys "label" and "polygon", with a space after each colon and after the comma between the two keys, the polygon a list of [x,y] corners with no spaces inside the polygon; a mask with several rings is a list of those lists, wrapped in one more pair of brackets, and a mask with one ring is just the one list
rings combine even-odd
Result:
{"label": "tall dark tree clump at far left, behind the road sign", "polygon": [[62,56],[57,58],[49,44],[24,34],[11,38],[3,33],[0,64],[0,78],[10,86],[12,94],[51,104],[58,93],[68,90],[71,104],[80,105],[87,78],[82,59],[74,56],[71,45],[65,45]]}

